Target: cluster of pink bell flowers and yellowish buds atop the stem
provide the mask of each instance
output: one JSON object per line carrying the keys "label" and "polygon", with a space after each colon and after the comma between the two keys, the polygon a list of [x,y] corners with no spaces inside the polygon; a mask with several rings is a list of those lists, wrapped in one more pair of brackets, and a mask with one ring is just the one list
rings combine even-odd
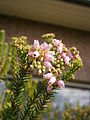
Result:
{"label": "cluster of pink bell flowers and yellowish buds atop the stem", "polygon": [[71,61],[79,58],[79,52],[75,47],[67,49],[62,40],[52,39],[39,44],[38,40],[34,40],[31,50],[28,52],[29,60],[31,60],[30,69],[38,71],[39,75],[48,80],[47,90],[52,90],[54,85],[60,88],[65,87],[61,74],[71,65]]}

